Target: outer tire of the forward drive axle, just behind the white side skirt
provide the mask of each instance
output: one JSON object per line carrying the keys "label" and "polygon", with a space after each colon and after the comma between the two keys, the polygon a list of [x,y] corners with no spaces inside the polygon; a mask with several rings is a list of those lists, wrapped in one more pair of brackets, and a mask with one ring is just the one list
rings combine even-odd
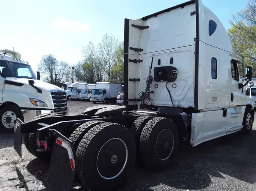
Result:
{"label": "outer tire of the forward drive axle, just behind the white side skirt", "polygon": [[161,171],[173,163],[179,147],[175,123],[165,117],[154,117],[144,126],[140,136],[140,159],[151,171]]}

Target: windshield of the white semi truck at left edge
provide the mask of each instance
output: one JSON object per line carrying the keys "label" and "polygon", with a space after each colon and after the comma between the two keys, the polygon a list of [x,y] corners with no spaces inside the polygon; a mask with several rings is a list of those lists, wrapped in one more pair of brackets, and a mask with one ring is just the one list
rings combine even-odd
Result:
{"label": "windshield of the white semi truck at left edge", "polygon": [[30,65],[0,60],[0,74],[3,78],[28,78],[36,80],[36,75]]}

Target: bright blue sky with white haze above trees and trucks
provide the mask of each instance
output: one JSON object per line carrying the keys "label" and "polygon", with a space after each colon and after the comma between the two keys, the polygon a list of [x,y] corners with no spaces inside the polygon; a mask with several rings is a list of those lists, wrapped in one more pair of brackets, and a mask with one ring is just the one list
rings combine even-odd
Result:
{"label": "bright blue sky with white haze above trees and trucks", "polygon": [[[34,71],[41,55],[53,54],[71,65],[82,45],[95,45],[105,33],[124,38],[124,18],[138,19],[187,0],[8,0],[1,2],[0,49],[20,52]],[[231,14],[246,0],[202,0],[228,29]]]}

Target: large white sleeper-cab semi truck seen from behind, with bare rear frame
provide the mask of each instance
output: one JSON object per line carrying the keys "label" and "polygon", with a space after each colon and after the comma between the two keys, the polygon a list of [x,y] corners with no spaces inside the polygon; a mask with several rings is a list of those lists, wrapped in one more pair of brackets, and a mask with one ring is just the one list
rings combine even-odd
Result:
{"label": "large white sleeper-cab semi truck seen from behind, with bare rear frame", "polygon": [[179,145],[251,133],[253,102],[242,89],[252,71],[247,67],[243,85],[237,63],[225,27],[201,0],[125,19],[125,106],[17,120],[14,149],[21,156],[21,135],[36,134],[31,152],[50,160],[53,190],[68,191],[76,176],[84,188],[114,191],[136,158],[160,171],[177,159]]}

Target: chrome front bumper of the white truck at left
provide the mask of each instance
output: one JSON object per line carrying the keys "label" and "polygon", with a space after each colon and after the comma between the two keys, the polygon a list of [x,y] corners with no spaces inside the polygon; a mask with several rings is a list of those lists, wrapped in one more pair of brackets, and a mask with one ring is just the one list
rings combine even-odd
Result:
{"label": "chrome front bumper of the white truck at left", "polygon": [[24,117],[24,122],[31,121],[34,117],[44,114],[44,113],[58,113],[58,114],[64,114],[66,116],[69,115],[69,106],[67,110],[65,111],[60,111],[60,112],[54,112],[53,110],[21,110],[23,117]]}

